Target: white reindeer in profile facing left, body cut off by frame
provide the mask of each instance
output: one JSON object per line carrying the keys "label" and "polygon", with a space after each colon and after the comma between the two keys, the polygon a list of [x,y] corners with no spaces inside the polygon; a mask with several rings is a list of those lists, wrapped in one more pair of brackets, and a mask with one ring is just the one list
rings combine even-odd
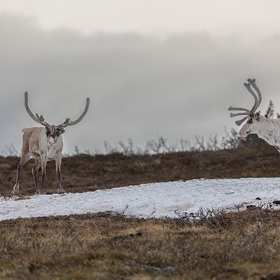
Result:
{"label": "white reindeer in profile facing left, body cut off by frame", "polygon": [[[244,85],[255,99],[253,107],[251,110],[248,110],[230,106],[229,111],[243,111],[242,113],[230,113],[230,117],[245,116],[235,122],[238,126],[248,119],[243,127],[241,127],[241,130],[239,130],[241,137],[245,137],[247,134],[258,134],[258,137],[267,141],[269,145],[274,146],[280,153],[280,120],[265,118],[265,116],[260,115],[260,111],[255,113],[262,102],[262,94],[255,83],[255,79],[248,78],[247,81],[248,83],[244,83]],[[258,96],[251,86],[257,92]]]}

